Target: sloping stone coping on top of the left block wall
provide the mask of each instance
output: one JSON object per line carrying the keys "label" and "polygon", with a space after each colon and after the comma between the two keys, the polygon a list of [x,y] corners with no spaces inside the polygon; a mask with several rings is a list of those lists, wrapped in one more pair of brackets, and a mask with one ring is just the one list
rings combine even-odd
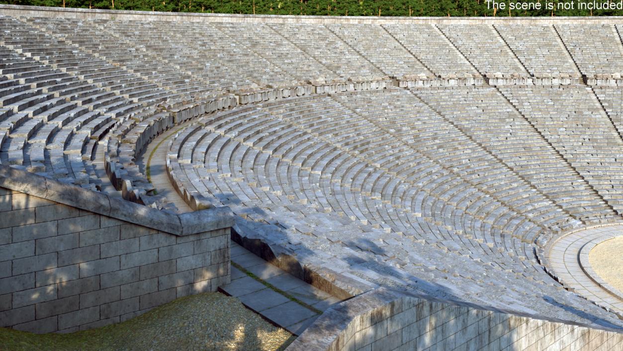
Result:
{"label": "sloping stone coping on top of the left block wall", "polygon": [[175,214],[0,165],[0,186],[177,236],[231,228],[229,207]]}

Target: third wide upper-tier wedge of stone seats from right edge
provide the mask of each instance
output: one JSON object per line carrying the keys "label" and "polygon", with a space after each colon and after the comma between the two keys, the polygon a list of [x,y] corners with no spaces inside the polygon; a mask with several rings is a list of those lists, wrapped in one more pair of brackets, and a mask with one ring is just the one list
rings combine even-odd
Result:
{"label": "third wide upper-tier wedge of stone seats from right edge", "polygon": [[530,77],[492,25],[439,24],[437,27],[480,74],[510,80]]}

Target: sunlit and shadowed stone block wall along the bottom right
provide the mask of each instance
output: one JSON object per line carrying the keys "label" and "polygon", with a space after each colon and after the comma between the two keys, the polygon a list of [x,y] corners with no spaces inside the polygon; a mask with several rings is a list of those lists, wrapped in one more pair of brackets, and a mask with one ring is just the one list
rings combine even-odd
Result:
{"label": "sunlit and shadowed stone block wall along the bottom right", "polygon": [[623,333],[376,289],[331,307],[287,351],[623,349]]}

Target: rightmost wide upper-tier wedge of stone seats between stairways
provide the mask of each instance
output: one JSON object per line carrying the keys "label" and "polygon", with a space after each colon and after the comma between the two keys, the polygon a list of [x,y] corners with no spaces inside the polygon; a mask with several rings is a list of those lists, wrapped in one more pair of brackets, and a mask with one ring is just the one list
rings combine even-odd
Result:
{"label": "rightmost wide upper-tier wedge of stone seats between stairways", "polygon": [[554,27],[588,84],[596,84],[597,79],[621,79],[623,44],[617,27],[612,24],[556,24]]}

